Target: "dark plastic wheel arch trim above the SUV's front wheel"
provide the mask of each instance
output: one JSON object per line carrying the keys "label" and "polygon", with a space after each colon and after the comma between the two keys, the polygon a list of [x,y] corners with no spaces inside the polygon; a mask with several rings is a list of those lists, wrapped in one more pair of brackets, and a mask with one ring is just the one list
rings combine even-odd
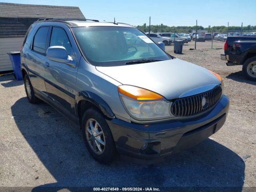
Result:
{"label": "dark plastic wheel arch trim above the SUV's front wheel", "polygon": [[81,91],[76,95],[76,114],[78,114],[78,103],[81,100],[91,102],[92,104],[97,106],[102,111],[102,113],[106,115],[108,118],[115,117],[114,113],[112,112],[108,104],[98,95],[90,91]]}

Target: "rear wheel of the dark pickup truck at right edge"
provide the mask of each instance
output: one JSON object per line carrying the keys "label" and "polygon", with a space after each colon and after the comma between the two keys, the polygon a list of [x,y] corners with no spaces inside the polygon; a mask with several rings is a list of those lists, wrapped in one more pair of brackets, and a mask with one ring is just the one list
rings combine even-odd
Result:
{"label": "rear wheel of the dark pickup truck at right edge", "polygon": [[256,56],[247,59],[243,64],[243,74],[251,81],[256,81]]}

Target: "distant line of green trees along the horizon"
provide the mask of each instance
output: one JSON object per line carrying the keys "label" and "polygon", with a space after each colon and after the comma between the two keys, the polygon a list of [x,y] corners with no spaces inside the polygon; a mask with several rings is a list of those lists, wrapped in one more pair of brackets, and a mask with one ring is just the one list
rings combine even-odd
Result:
{"label": "distant line of green trees along the horizon", "polygon": [[[144,32],[149,31],[149,26],[144,23],[143,25],[138,25],[136,26],[140,30]],[[208,32],[220,32],[220,33],[226,33],[226,32],[232,32],[232,31],[241,31],[241,26],[208,26],[208,27],[203,27],[203,26],[197,26],[198,30],[207,30]],[[160,25],[151,25],[150,26],[150,31],[151,32],[176,32],[176,33],[181,33],[181,32],[186,32],[186,33],[191,33],[192,30],[196,30],[196,26],[167,26],[164,24]],[[243,26],[242,31],[256,31],[256,26]]]}

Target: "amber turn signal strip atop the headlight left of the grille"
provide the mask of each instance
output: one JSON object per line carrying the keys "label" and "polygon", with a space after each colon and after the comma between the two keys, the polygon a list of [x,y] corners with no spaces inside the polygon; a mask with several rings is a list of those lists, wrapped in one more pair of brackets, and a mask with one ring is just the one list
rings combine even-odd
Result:
{"label": "amber turn signal strip atop the headlight left of the grille", "polygon": [[155,100],[163,98],[155,92],[130,85],[119,86],[118,92],[136,100]]}

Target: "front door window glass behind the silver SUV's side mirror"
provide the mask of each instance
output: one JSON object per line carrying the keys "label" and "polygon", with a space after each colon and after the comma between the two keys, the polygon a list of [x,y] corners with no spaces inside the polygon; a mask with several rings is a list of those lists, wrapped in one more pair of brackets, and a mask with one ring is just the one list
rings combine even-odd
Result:
{"label": "front door window glass behind the silver SUV's side mirror", "polygon": [[71,54],[71,44],[64,29],[59,27],[52,28],[50,46],[63,46],[66,48],[68,55]]}

